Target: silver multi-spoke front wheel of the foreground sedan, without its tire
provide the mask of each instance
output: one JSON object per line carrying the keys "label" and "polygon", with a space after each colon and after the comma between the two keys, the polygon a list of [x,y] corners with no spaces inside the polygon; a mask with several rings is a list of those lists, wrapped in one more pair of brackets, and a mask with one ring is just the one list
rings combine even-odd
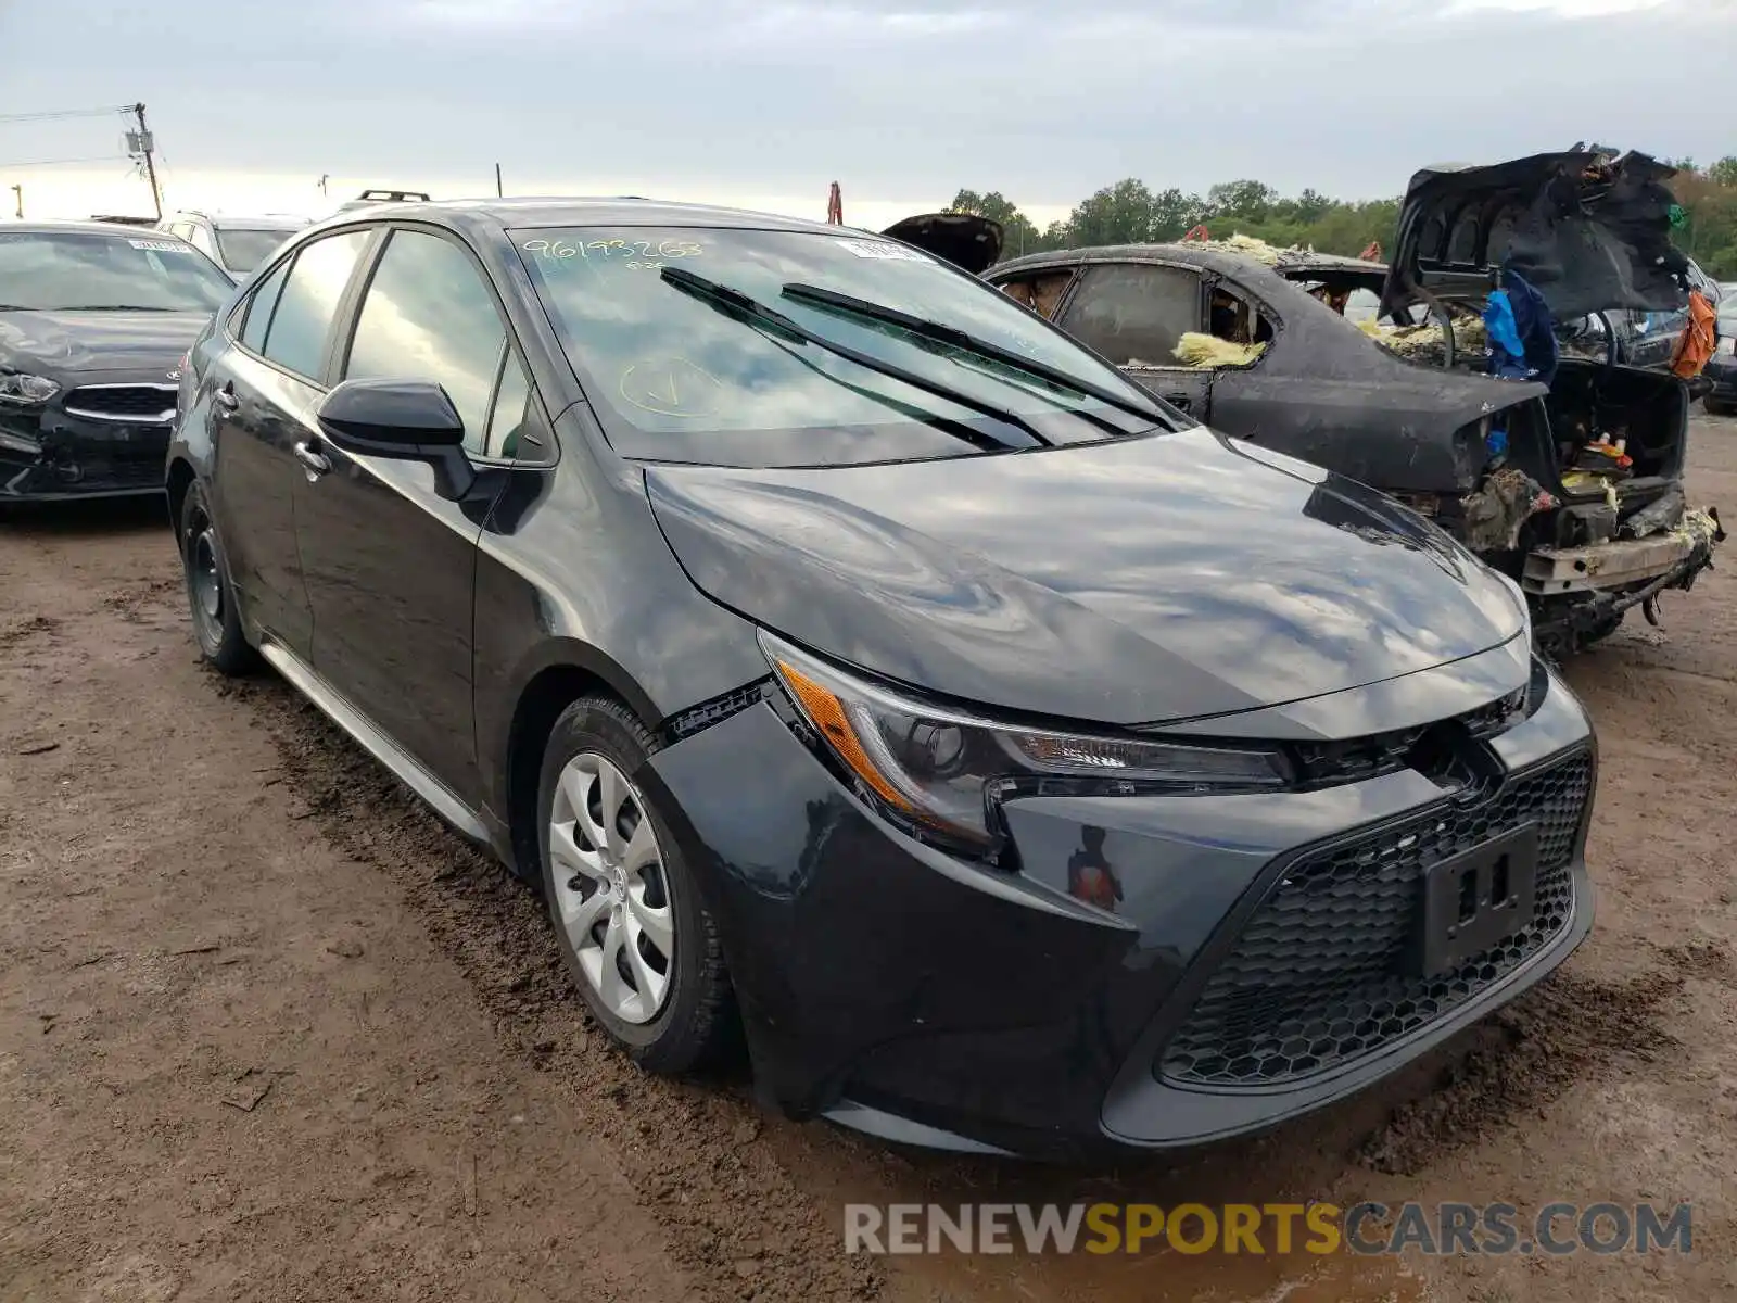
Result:
{"label": "silver multi-spoke front wheel of the foreground sedan, without its tire", "polygon": [[651,1022],[676,971],[676,914],[639,789],[608,757],[573,756],[556,784],[547,850],[585,982],[622,1022]]}

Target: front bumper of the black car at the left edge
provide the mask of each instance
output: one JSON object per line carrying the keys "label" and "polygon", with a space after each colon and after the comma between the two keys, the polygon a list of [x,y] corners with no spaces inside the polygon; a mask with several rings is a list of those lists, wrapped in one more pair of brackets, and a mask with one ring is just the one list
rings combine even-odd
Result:
{"label": "front bumper of the black car at the left edge", "polygon": [[99,420],[64,408],[0,405],[0,500],[137,497],[163,492],[174,422]]}

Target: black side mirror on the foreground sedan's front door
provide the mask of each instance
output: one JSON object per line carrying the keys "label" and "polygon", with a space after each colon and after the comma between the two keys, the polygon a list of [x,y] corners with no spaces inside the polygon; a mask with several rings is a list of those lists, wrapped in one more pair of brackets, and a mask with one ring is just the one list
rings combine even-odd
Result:
{"label": "black side mirror on the foreground sedan's front door", "polygon": [[429,380],[344,380],[314,419],[344,452],[433,466],[436,492],[448,500],[462,499],[476,481],[464,455],[464,419]]}

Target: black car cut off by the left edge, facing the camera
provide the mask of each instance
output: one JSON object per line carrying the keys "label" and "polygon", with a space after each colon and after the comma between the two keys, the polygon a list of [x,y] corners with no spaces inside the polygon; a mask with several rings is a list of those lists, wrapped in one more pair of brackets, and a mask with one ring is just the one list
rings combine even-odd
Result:
{"label": "black car cut off by the left edge, facing the camera", "polygon": [[233,292],[160,231],[0,228],[0,502],[162,493],[181,358]]}

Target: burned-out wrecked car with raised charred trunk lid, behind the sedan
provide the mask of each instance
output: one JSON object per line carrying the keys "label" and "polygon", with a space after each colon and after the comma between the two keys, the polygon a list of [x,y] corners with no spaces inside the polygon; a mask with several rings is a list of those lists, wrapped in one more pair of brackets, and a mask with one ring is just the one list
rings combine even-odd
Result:
{"label": "burned-out wrecked car with raised charred trunk lid, behind the sedan", "polygon": [[[1386,492],[1515,580],[1569,655],[1725,539],[1683,490],[1688,386],[1556,321],[1680,313],[1671,169],[1572,149],[1412,177],[1391,266],[1232,238],[1035,254],[1007,295],[1193,419]],[[1346,316],[1362,297],[1377,313]]]}

